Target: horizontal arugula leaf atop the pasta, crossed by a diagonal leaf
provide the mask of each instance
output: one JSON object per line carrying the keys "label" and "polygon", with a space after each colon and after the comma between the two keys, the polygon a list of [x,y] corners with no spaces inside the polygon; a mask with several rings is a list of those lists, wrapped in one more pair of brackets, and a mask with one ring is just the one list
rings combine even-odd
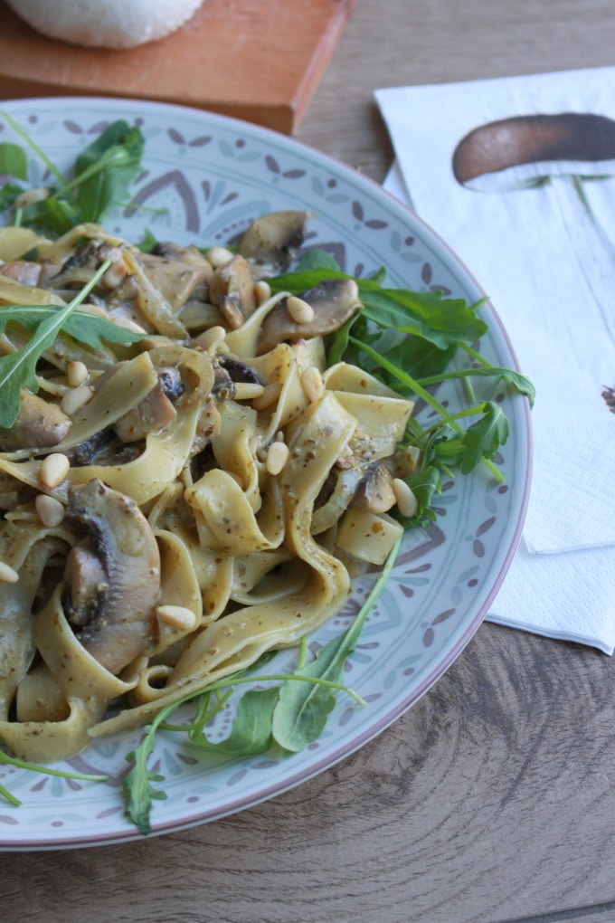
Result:
{"label": "horizontal arugula leaf atop the pasta, crossed by a diagonal leaf", "polygon": [[[0,306],[0,333],[11,321],[27,330],[35,330],[41,322],[54,318],[57,306],[50,305],[2,305]],[[78,342],[86,343],[92,349],[102,349],[103,341],[111,343],[135,343],[142,340],[144,333],[136,333],[120,327],[107,318],[99,318],[88,311],[76,310],[66,318],[62,331]]]}

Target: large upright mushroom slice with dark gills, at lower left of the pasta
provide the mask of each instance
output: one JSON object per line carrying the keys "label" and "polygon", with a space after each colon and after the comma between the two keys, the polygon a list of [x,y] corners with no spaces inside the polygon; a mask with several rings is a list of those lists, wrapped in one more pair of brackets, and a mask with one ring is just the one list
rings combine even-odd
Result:
{"label": "large upright mushroom slice with dark gills, at lower left of the pasta", "polygon": [[86,650],[117,674],[153,644],[159,548],[136,503],[100,480],[71,489],[66,521],[85,533],[68,556],[66,615]]}

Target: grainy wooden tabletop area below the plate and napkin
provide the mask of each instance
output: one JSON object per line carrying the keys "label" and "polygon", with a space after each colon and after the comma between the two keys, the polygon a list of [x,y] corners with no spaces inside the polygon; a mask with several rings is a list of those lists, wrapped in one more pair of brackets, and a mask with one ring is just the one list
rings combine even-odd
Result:
{"label": "grainy wooden tabletop area below the plate and napkin", "polygon": [[499,923],[612,900],[612,687],[601,654],[484,625],[381,737],[273,801],[3,857],[8,905],[28,881],[12,919],[286,923],[291,900],[304,923]]}

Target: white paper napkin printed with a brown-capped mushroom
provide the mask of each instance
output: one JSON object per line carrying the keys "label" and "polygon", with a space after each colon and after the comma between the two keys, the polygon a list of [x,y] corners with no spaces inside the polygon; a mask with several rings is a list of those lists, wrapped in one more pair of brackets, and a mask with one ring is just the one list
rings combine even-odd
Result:
{"label": "white paper napkin printed with a brown-capped mushroom", "polygon": [[[397,159],[385,187],[464,260],[537,386],[524,536],[490,618],[605,653],[615,649],[613,85],[615,68],[599,68],[376,91]],[[519,116],[531,116],[533,128],[576,135],[567,148],[561,137],[560,150],[553,142],[548,161],[543,153],[538,164],[493,169],[491,149],[508,161],[521,156]],[[604,150],[587,151],[596,125],[606,129]],[[462,185],[463,164],[455,175],[453,162],[477,128],[473,156],[484,169],[489,155],[491,166],[471,180],[479,190]]]}

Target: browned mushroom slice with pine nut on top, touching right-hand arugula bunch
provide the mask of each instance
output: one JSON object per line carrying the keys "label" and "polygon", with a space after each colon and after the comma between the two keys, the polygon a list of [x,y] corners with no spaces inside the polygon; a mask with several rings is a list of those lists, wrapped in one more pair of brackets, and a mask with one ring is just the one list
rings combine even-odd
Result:
{"label": "browned mushroom slice with pine nut on top, touching right-hand arugula bunch", "polygon": [[259,355],[268,353],[280,342],[309,340],[339,330],[361,308],[359,287],[353,279],[327,279],[301,295],[313,308],[313,319],[298,324],[290,317],[286,299],[278,302],[263,321],[258,338]]}

